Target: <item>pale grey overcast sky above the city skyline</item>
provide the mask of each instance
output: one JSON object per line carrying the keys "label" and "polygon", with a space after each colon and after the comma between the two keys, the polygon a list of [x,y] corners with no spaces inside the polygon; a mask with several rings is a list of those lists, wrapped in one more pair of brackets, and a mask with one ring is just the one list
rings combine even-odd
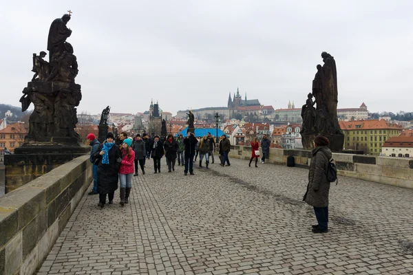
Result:
{"label": "pale grey overcast sky above the city skyline", "polygon": [[275,109],[301,107],[323,51],[337,63],[339,108],[413,111],[411,0],[6,1],[1,103],[19,106],[32,54],[68,9],[78,112],[137,113],[153,98],[175,115],[226,106],[237,87]]}

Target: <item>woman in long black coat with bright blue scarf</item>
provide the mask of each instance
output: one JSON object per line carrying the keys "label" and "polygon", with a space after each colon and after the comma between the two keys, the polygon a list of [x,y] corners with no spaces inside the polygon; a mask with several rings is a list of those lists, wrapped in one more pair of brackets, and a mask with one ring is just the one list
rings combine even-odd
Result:
{"label": "woman in long black coat with bright blue scarf", "polygon": [[114,142],[113,133],[107,133],[106,142],[100,144],[94,157],[98,159],[98,206],[103,208],[106,203],[106,195],[109,204],[113,203],[115,190],[118,189],[119,159],[122,161],[119,147]]}

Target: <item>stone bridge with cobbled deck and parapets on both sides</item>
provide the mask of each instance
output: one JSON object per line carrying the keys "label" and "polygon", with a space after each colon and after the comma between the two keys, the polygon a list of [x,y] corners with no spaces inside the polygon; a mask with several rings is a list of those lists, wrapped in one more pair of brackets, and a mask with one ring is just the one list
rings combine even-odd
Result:
{"label": "stone bridge with cobbled deck and parapets on both sides", "polygon": [[313,234],[309,151],[250,154],[187,177],[147,162],[131,203],[103,209],[76,157],[0,198],[0,274],[413,274],[413,160],[334,154],[329,232]]}

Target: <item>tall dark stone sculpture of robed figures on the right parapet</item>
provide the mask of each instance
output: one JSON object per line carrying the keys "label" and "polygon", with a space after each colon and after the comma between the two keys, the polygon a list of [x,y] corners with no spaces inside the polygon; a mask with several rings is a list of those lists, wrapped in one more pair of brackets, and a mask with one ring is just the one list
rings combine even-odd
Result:
{"label": "tall dark stone sculpture of robed figures on the right parapet", "polygon": [[[314,104],[308,95],[308,101],[303,106],[303,126],[301,137],[306,149],[313,148],[316,135],[324,135],[330,141],[332,151],[341,151],[344,144],[343,131],[337,118],[337,67],[334,58],[327,52],[322,52],[324,65],[317,65],[317,74],[313,80],[313,96],[317,104],[315,113],[309,106]],[[313,114],[315,116],[313,117]]]}

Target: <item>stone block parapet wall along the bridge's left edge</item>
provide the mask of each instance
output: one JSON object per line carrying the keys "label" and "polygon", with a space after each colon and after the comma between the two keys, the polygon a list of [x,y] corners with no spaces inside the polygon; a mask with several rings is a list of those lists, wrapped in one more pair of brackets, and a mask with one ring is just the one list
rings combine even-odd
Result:
{"label": "stone block parapet wall along the bridge's left edge", "polygon": [[0,274],[33,274],[92,181],[77,157],[0,197]]}

